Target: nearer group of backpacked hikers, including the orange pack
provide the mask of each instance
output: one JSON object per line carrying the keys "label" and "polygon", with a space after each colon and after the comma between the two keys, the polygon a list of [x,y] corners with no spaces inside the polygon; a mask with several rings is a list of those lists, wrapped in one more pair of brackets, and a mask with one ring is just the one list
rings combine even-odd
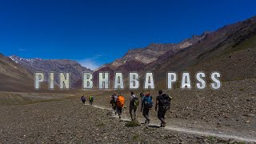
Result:
{"label": "nearer group of backpacked hikers, including the orange pack", "polygon": [[[122,116],[122,109],[125,106],[125,97],[122,94],[114,94],[110,97],[112,104],[112,109],[114,110],[114,114],[118,114],[119,118]],[[150,94],[140,94],[140,98],[142,100],[141,112],[143,116],[146,118],[146,124],[150,123],[150,110],[154,106],[153,98]],[[158,112],[158,118],[161,121],[161,127],[166,126],[165,115],[166,111],[170,110],[170,101],[171,97],[168,94],[164,94],[162,90],[158,91],[158,97],[156,98],[155,103],[155,111]],[[137,116],[137,108],[139,105],[139,98],[134,94],[134,92],[130,92],[130,117],[132,121],[136,120]]]}

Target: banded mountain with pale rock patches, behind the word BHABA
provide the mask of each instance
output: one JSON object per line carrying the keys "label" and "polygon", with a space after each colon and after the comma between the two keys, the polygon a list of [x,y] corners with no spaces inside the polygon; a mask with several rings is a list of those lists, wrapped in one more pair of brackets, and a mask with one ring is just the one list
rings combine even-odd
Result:
{"label": "banded mountain with pale rock patches, behind the word BHABA", "polygon": [[[129,71],[143,72],[146,66],[153,64],[158,58],[168,58],[170,54],[176,54],[179,50],[193,46],[211,32],[205,32],[202,35],[194,35],[192,38],[187,38],[180,43],[167,44],[150,44],[145,48],[129,50],[122,58],[116,59],[114,62],[106,64],[98,70],[94,71],[94,86],[98,86],[98,73],[103,71],[110,72],[110,86],[112,88],[114,71],[122,72],[125,78],[128,77]],[[127,79],[125,79],[125,82]],[[77,82],[80,86],[81,81]]]}

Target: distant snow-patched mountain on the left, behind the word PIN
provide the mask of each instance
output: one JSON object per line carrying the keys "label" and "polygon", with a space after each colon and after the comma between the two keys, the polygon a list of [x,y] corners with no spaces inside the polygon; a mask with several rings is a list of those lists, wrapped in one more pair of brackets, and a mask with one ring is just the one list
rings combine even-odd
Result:
{"label": "distant snow-patched mountain on the left, behind the word PIN", "polygon": [[31,73],[43,72],[46,77],[45,81],[49,80],[49,73],[55,72],[55,84],[59,85],[59,73],[70,72],[71,88],[74,88],[74,83],[78,82],[82,78],[82,72],[91,72],[90,69],[81,66],[78,62],[66,60],[66,59],[41,59],[41,58],[20,58],[12,55],[10,58],[30,70]]}

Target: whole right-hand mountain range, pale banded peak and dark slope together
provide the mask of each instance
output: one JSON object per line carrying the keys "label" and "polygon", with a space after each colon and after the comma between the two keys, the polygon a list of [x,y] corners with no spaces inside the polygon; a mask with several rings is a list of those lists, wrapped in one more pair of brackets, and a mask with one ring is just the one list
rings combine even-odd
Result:
{"label": "whole right-hand mountain range, pale banded peak and dark slope together", "polygon": [[[255,65],[252,65],[256,58],[255,47],[256,17],[253,17],[223,26],[214,32],[193,36],[178,44],[151,44],[142,49],[129,50],[124,57],[94,71],[94,82],[97,83],[98,72],[102,71],[110,72],[110,80],[114,78],[114,71],[122,71],[125,78],[129,71],[138,71],[141,82],[146,71],[153,71],[158,86],[166,87],[168,71],[190,70],[195,73],[197,70],[203,70],[210,73],[213,68],[222,73],[222,80],[240,78],[238,71],[242,74],[241,78],[255,78]],[[234,58],[240,59],[237,65]],[[225,70],[225,67],[229,69]],[[253,75],[244,74],[245,71],[251,70]]]}

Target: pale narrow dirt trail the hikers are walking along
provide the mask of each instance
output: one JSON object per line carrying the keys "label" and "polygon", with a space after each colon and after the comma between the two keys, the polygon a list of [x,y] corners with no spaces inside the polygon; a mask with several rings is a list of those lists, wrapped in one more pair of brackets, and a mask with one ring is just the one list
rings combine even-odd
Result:
{"label": "pale narrow dirt trail the hikers are walking along", "polygon": [[[96,106],[94,105],[95,108],[102,109],[102,110],[112,110],[110,108],[102,107],[102,106]],[[118,117],[116,117],[118,118]],[[124,118],[121,118],[122,121],[130,121],[130,118],[124,113]],[[144,121],[139,118],[139,122],[143,123]],[[149,126],[159,126],[159,124],[151,122]],[[227,139],[234,139],[242,142],[256,142],[256,139],[254,137],[251,138],[245,138],[241,137],[238,135],[232,135],[232,134],[224,134],[224,133],[214,133],[212,131],[203,131],[203,130],[193,130],[193,129],[187,129],[183,127],[178,127],[178,126],[166,126],[164,129],[166,130],[174,130],[186,134],[198,134],[198,135],[203,135],[203,136],[213,136],[213,137],[218,137],[218,138],[227,138]]]}

